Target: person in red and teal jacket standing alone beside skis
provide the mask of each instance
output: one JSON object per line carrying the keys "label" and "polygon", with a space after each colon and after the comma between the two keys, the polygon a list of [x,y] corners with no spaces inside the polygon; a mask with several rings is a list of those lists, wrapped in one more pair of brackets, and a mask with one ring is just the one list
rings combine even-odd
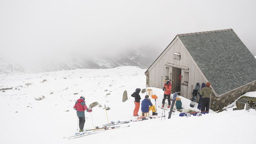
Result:
{"label": "person in red and teal jacket standing alone beside skis", "polygon": [[83,132],[84,130],[84,123],[85,123],[85,115],[84,111],[86,110],[87,112],[92,112],[92,109],[88,109],[85,101],[84,101],[84,96],[81,96],[75,103],[73,109],[76,110],[76,115],[78,116],[79,119],[79,132]]}

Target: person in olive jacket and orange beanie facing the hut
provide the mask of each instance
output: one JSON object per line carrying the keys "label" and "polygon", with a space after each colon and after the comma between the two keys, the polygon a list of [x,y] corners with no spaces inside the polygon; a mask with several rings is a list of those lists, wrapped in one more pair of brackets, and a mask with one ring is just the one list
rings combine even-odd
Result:
{"label": "person in olive jacket and orange beanie facing the hut", "polygon": [[210,96],[212,94],[212,89],[210,88],[210,83],[207,82],[206,86],[204,88],[201,89],[200,91],[200,95],[203,96],[202,99],[202,107],[201,107],[201,111],[209,111],[210,108]]}

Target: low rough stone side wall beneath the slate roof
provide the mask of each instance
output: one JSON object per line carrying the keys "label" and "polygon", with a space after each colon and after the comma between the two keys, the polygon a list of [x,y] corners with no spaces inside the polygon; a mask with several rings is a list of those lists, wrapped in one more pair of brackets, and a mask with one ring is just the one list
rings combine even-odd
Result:
{"label": "low rough stone side wall beneath the slate roof", "polygon": [[212,95],[210,109],[212,109],[214,111],[218,111],[218,110],[222,109],[223,107],[226,107],[229,104],[233,103],[241,95],[245,94],[246,92],[250,92],[250,91],[256,91],[256,82],[250,83],[244,87],[241,87],[237,90],[227,93],[221,97],[216,97],[215,95]]}

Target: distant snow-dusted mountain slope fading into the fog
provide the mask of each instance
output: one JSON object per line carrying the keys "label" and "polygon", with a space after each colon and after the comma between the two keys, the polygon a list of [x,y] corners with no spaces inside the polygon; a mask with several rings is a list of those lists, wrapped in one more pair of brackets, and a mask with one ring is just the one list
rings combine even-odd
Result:
{"label": "distant snow-dusted mountain slope fading into the fog", "polygon": [[10,63],[0,59],[0,73],[49,72],[73,69],[105,69],[118,66],[148,68],[157,58],[158,50],[133,50],[115,56],[70,56],[63,59],[45,58],[40,62]]}

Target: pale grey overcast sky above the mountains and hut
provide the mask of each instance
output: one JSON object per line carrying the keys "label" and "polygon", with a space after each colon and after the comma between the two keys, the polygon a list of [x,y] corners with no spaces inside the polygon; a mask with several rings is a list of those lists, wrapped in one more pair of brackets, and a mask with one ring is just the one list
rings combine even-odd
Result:
{"label": "pale grey overcast sky above the mountains and hut", "polygon": [[0,57],[161,53],[177,34],[232,28],[256,55],[255,0],[0,0]]}

